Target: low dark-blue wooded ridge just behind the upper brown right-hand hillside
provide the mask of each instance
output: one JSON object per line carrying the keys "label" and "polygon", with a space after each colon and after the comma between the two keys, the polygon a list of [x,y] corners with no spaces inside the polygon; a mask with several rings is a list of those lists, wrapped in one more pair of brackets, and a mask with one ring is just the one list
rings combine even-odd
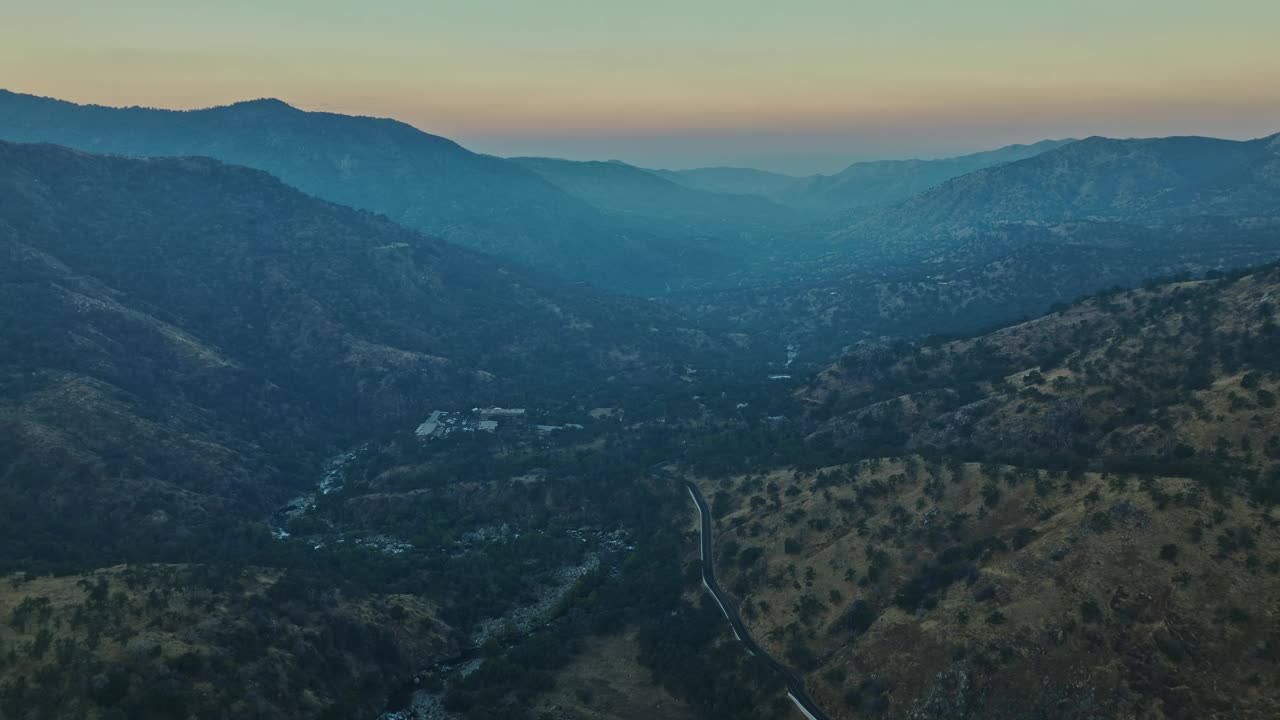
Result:
{"label": "low dark-blue wooded ridge just behind the upper brown right-hand hillside", "polygon": [[1193,218],[1167,227],[1078,220],[1009,224],[924,261],[827,254],[778,263],[741,288],[669,299],[704,323],[826,359],[868,337],[977,332],[1106,287],[1260,265],[1280,258],[1280,218]]}

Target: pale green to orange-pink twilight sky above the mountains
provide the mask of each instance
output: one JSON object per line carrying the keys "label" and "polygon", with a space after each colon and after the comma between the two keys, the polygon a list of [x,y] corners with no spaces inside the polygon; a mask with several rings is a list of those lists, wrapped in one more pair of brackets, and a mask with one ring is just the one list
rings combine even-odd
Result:
{"label": "pale green to orange-pink twilight sky above the mountains", "polygon": [[495,155],[836,172],[1280,131],[1277,0],[0,0],[0,87],[279,97]]}

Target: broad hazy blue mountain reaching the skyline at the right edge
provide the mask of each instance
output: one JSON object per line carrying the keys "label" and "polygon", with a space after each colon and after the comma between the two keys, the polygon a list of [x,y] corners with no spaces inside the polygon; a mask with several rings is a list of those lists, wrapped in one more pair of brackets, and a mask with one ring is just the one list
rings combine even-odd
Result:
{"label": "broad hazy blue mountain reaching the skyline at the right edge", "polygon": [[892,208],[854,214],[829,238],[855,252],[919,258],[1010,223],[1146,225],[1280,214],[1280,142],[1091,137],[957,177]]}

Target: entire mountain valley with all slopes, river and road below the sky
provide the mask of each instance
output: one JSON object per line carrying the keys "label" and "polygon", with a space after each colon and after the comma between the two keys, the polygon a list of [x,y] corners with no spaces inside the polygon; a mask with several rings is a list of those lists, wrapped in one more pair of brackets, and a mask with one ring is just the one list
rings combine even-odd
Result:
{"label": "entire mountain valley with all slopes, river and road below the sky", "polygon": [[0,92],[0,716],[1275,716],[1277,167]]}

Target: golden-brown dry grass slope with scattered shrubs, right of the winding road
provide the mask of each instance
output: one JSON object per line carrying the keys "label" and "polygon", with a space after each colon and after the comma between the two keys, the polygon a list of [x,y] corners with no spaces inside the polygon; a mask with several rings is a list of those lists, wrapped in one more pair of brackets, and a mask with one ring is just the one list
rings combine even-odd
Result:
{"label": "golden-brown dry grass slope with scattered shrubs, right of the winding road", "polygon": [[870,460],[703,482],[833,717],[1274,717],[1274,512],[1179,478]]}

